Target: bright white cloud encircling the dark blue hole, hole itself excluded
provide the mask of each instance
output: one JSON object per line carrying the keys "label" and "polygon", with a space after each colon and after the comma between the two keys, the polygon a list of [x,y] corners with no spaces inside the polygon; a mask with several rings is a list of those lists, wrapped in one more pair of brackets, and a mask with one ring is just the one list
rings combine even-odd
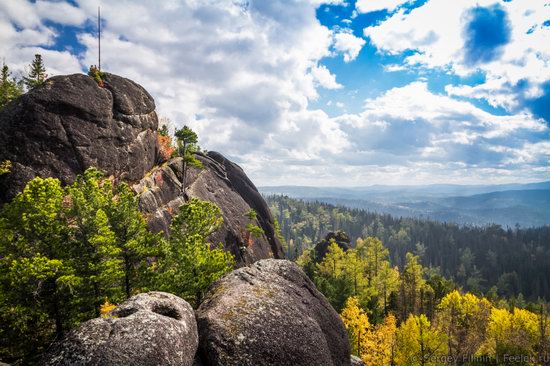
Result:
{"label": "bright white cloud encircling the dark blue hole, hole itself excluded", "polygon": [[510,42],[503,46],[500,57],[471,64],[465,53],[467,12],[476,6],[495,4],[495,0],[431,0],[409,13],[398,11],[381,24],[365,28],[364,34],[383,53],[415,51],[404,61],[404,66],[410,68],[447,70],[461,76],[484,72],[483,85],[454,85],[447,91],[513,110],[520,99],[528,96],[518,94],[514,85],[526,80],[536,89],[550,79],[550,27],[542,26],[548,19],[548,8],[543,1],[498,2],[510,21]]}

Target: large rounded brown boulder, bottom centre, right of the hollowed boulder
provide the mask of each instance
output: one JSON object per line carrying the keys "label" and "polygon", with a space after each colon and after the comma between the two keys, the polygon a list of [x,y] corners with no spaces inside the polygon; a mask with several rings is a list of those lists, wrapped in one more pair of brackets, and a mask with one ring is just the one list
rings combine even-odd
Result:
{"label": "large rounded brown boulder, bottom centre, right of the hollowed boulder", "polygon": [[350,365],[340,317],[286,260],[261,260],[217,281],[197,321],[205,365]]}

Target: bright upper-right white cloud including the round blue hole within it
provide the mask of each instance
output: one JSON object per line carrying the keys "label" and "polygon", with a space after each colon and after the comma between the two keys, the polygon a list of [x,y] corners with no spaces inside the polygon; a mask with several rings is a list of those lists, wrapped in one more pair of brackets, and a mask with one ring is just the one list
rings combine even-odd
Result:
{"label": "bright upper-right white cloud including the round blue hole within it", "polygon": [[383,53],[407,53],[409,68],[460,76],[483,72],[484,83],[450,85],[447,91],[515,113],[529,107],[525,101],[550,80],[546,9],[543,1],[431,0],[410,12],[399,10],[364,34]]}

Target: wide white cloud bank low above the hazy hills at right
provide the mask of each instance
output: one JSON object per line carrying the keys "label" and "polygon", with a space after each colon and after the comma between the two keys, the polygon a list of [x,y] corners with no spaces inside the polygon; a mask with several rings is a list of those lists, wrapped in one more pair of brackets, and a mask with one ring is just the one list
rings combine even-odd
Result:
{"label": "wide white cloud bank low above the hazy hills at right", "polygon": [[[338,159],[354,171],[363,169],[359,175],[365,175],[365,169],[376,174],[383,169],[399,177],[395,182],[418,182],[430,175],[443,182],[469,180],[496,169],[493,173],[506,173],[492,177],[498,180],[532,176],[530,170],[546,164],[547,150],[530,147],[549,133],[542,121],[530,114],[492,115],[434,94],[425,82],[391,89],[367,100],[363,112],[335,121],[350,143]],[[526,151],[529,159],[522,160]]]}

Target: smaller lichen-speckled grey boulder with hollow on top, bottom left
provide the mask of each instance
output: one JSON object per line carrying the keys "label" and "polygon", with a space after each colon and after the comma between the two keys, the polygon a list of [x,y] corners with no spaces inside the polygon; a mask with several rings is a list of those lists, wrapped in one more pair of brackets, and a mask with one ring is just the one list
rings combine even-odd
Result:
{"label": "smaller lichen-speckled grey boulder with hollow on top, bottom left", "polygon": [[164,292],[136,295],[55,344],[43,366],[191,366],[198,334],[191,306]]}

